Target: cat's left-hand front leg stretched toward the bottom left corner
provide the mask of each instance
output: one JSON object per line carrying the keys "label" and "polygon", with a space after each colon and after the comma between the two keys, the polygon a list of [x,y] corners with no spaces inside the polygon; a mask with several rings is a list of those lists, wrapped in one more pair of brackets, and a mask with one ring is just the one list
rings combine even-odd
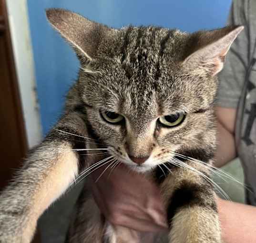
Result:
{"label": "cat's left-hand front leg stretched toward the bottom left corner", "polygon": [[79,156],[73,149],[85,144],[71,133],[86,136],[85,129],[76,112],[64,116],[31,151],[13,182],[0,194],[0,243],[31,242],[39,216],[78,173]]}

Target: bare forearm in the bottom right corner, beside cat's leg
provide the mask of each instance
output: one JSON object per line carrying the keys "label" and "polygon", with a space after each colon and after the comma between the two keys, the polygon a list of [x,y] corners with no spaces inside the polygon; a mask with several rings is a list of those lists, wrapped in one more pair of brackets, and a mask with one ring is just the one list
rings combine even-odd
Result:
{"label": "bare forearm in the bottom right corner, beside cat's leg", "polygon": [[217,199],[224,243],[256,242],[256,207]]}

